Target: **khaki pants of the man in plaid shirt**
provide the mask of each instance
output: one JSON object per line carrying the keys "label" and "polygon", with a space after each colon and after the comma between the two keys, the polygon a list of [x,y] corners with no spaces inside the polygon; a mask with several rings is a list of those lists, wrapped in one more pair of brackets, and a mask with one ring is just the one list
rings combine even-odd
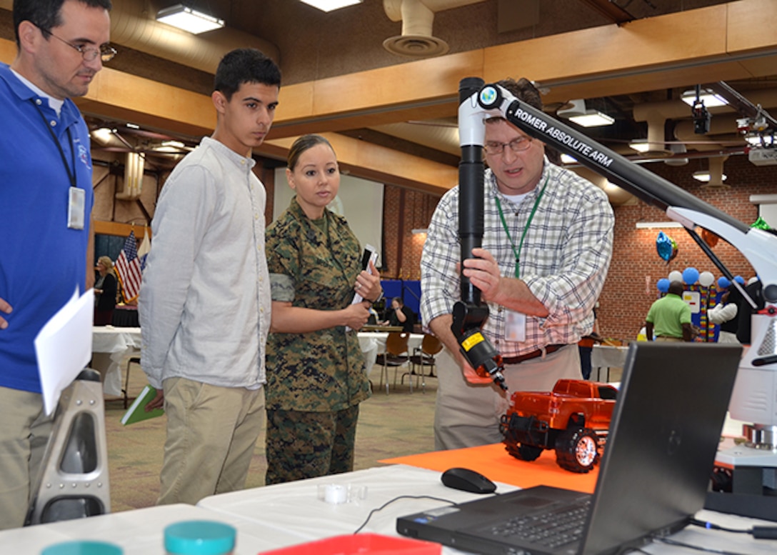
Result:
{"label": "khaki pants of the man in plaid shirt", "polygon": [[581,379],[577,344],[545,358],[507,365],[507,395],[494,384],[472,385],[448,349],[437,355],[437,401],[434,408],[434,448],[462,449],[502,441],[499,423],[508,395],[516,391],[550,391],[556,380]]}

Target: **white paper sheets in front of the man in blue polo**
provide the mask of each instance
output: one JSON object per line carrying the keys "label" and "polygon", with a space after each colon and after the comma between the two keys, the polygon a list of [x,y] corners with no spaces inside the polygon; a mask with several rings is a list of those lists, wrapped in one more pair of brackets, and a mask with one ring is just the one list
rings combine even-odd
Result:
{"label": "white paper sheets in front of the man in blue polo", "polygon": [[92,317],[94,291],[71,299],[57,311],[35,337],[40,386],[44,410],[51,414],[57,407],[62,389],[70,385],[92,358]]}

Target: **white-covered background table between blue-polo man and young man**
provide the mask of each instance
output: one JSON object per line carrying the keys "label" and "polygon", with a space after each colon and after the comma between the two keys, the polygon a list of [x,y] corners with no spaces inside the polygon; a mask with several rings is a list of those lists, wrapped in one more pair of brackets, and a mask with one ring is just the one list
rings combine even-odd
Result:
{"label": "white-covered background table between blue-polo man and young man", "polygon": [[121,395],[121,362],[141,351],[139,327],[94,326],[92,328],[92,368],[103,376],[103,392]]}

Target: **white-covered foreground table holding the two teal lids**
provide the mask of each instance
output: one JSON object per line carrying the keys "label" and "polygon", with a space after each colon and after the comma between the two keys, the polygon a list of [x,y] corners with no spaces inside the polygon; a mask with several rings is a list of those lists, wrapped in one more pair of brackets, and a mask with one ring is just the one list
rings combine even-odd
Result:
{"label": "white-covered foreground table holding the two teal lids", "polygon": [[238,515],[173,504],[5,530],[0,532],[0,546],[3,553],[40,553],[55,543],[85,539],[113,543],[124,550],[124,555],[155,555],[165,552],[165,527],[186,520],[213,520],[234,526],[238,531],[235,555],[256,555],[305,541]]}

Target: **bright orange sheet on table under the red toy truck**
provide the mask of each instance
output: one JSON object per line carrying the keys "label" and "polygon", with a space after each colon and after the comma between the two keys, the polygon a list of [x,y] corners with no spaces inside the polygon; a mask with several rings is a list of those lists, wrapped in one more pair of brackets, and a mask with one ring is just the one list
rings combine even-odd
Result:
{"label": "bright orange sheet on table under the red toy truck", "polygon": [[587,474],[577,474],[559,468],[556,465],[556,453],[553,451],[543,451],[539,459],[527,463],[511,456],[504,450],[502,443],[434,451],[378,462],[406,464],[440,472],[453,466],[463,466],[478,471],[494,482],[510,483],[517,487],[556,486],[586,493],[593,493],[599,475],[598,466]]}

